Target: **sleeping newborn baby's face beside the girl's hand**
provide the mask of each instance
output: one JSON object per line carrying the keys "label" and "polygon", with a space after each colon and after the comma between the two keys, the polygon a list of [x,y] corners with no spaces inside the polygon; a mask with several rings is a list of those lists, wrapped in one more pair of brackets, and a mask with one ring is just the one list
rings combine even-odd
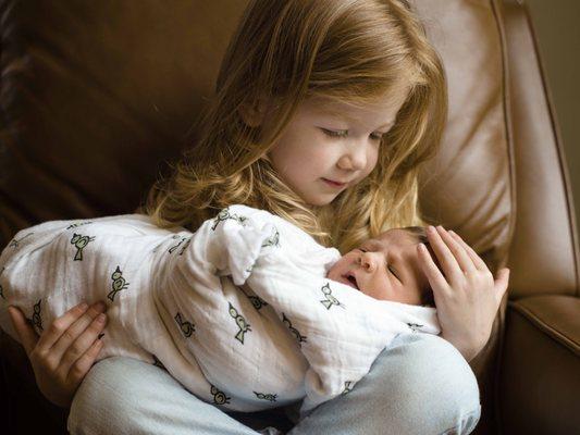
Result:
{"label": "sleeping newborn baby's face beside the girl's hand", "polygon": [[328,277],[375,299],[421,304],[429,287],[417,252],[417,239],[403,229],[390,229],[343,256]]}

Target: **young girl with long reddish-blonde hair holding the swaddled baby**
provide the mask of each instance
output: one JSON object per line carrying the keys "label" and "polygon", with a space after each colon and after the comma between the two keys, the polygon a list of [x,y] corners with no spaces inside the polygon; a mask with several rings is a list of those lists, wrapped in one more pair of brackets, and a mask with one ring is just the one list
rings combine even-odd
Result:
{"label": "young girl with long reddish-blonde hair holding the swaddled baby", "polygon": [[[251,1],[199,140],[145,210],[160,226],[195,231],[245,203],[346,252],[383,229],[423,224],[417,174],[436,152],[445,116],[441,61],[406,1]],[[466,360],[490,336],[508,274],[494,283],[477,253],[441,227],[429,241],[445,274],[419,256],[445,339],[394,340],[350,393],[295,421],[292,434],[472,431],[479,390]],[[256,433],[155,365],[111,358],[88,372],[102,311],[77,307],[37,338],[11,310],[39,388],[71,406],[72,434]]]}

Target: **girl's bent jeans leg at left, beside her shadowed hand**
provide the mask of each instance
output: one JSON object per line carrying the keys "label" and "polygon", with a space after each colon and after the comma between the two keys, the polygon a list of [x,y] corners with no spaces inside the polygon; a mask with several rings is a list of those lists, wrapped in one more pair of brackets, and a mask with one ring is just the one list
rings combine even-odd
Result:
{"label": "girl's bent jeans leg at left, beside her shadowed hand", "polygon": [[75,394],[72,435],[256,435],[217,407],[187,391],[168,372],[132,358],[95,364]]}

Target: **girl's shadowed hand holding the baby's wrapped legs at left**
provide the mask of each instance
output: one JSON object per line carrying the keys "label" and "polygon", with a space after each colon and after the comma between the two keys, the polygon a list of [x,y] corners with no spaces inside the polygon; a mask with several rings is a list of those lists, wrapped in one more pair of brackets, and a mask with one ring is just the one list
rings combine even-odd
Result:
{"label": "girl's shadowed hand holding the baby's wrapped legs at left", "polygon": [[102,348],[98,335],[106,324],[106,304],[90,308],[81,303],[55,319],[40,338],[16,307],[8,311],[21,339],[45,397],[54,405],[69,408],[81,382]]}

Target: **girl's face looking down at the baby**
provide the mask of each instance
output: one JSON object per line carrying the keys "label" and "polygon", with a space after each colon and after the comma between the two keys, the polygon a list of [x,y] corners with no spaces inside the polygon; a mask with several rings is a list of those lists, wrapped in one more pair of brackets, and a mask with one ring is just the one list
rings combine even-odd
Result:
{"label": "girl's face looking down at the baby", "polygon": [[402,88],[386,101],[365,108],[307,99],[270,151],[274,169],[307,203],[330,203],[372,172],[381,135],[393,126],[406,98],[407,89]]}

